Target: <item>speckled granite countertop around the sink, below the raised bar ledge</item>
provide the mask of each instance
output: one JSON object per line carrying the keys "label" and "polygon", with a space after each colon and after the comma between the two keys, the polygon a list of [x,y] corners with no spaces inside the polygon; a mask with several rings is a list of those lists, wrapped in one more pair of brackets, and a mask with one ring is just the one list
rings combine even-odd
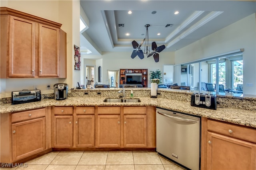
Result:
{"label": "speckled granite countertop around the sink, below the raised bar ledge", "polygon": [[190,102],[187,101],[166,98],[139,97],[141,102],[138,103],[107,103],[103,102],[105,98],[106,97],[69,97],[66,100],[43,99],[40,102],[26,104],[2,104],[0,113],[24,111],[46,106],[156,106],[172,111],[189,113],[256,128],[256,112],[250,110],[220,107],[217,107],[216,110],[204,109],[190,106]]}

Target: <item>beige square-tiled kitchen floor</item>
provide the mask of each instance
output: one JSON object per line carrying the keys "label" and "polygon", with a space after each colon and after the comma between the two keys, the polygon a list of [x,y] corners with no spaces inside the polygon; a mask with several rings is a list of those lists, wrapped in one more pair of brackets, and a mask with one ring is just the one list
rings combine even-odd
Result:
{"label": "beige square-tiled kitchen floor", "polygon": [[1,170],[184,170],[152,151],[58,151]]}

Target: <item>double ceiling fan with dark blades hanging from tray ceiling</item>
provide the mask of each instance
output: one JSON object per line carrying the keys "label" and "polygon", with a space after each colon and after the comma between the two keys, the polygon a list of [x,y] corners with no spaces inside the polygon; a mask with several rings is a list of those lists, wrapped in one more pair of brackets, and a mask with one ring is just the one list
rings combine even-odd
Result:
{"label": "double ceiling fan with dark blades hanging from tray ceiling", "polygon": [[[157,63],[159,61],[159,54],[161,51],[163,51],[165,49],[165,45],[161,45],[159,47],[157,47],[156,42],[152,42],[152,52],[150,52],[150,46],[149,46],[149,37],[148,37],[148,27],[150,25],[146,24],[146,37],[142,40],[142,42],[140,43],[140,45],[134,40],[132,41],[132,47],[134,48],[134,50],[132,51],[132,59],[134,59],[137,55],[140,59],[144,58],[144,54],[146,54],[148,57],[152,56],[154,57],[155,62]],[[143,43],[145,42],[144,45],[144,52],[140,49],[140,47],[143,45]]]}

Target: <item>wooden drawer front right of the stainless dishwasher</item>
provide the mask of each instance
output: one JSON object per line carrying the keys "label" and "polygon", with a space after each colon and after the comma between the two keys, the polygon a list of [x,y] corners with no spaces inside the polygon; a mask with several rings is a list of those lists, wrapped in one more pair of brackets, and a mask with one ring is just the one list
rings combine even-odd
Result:
{"label": "wooden drawer front right of the stainless dishwasher", "polygon": [[238,139],[243,139],[256,143],[255,129],[250,129],[238,125],[231,125],[228,123],[222,123],[214,120],[207,120],[207,129],[208,131],[213,131],[230,137],[235,137]]}

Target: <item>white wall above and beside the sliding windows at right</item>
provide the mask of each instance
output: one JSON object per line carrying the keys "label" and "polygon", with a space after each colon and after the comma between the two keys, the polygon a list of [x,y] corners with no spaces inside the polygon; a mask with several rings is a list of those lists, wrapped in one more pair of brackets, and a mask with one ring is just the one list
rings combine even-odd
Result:
{"label": "white wall above and beside the sliding windows at right", "polygon": [[[247,16],[175,52],[175,64],[244,48],[244,94],[256,94],[256,14]],[[189,57],[188,57],[189,56]],[[253,74],[252,74],[253,73]],[[252,83],[252,87],[246,86]]]}

